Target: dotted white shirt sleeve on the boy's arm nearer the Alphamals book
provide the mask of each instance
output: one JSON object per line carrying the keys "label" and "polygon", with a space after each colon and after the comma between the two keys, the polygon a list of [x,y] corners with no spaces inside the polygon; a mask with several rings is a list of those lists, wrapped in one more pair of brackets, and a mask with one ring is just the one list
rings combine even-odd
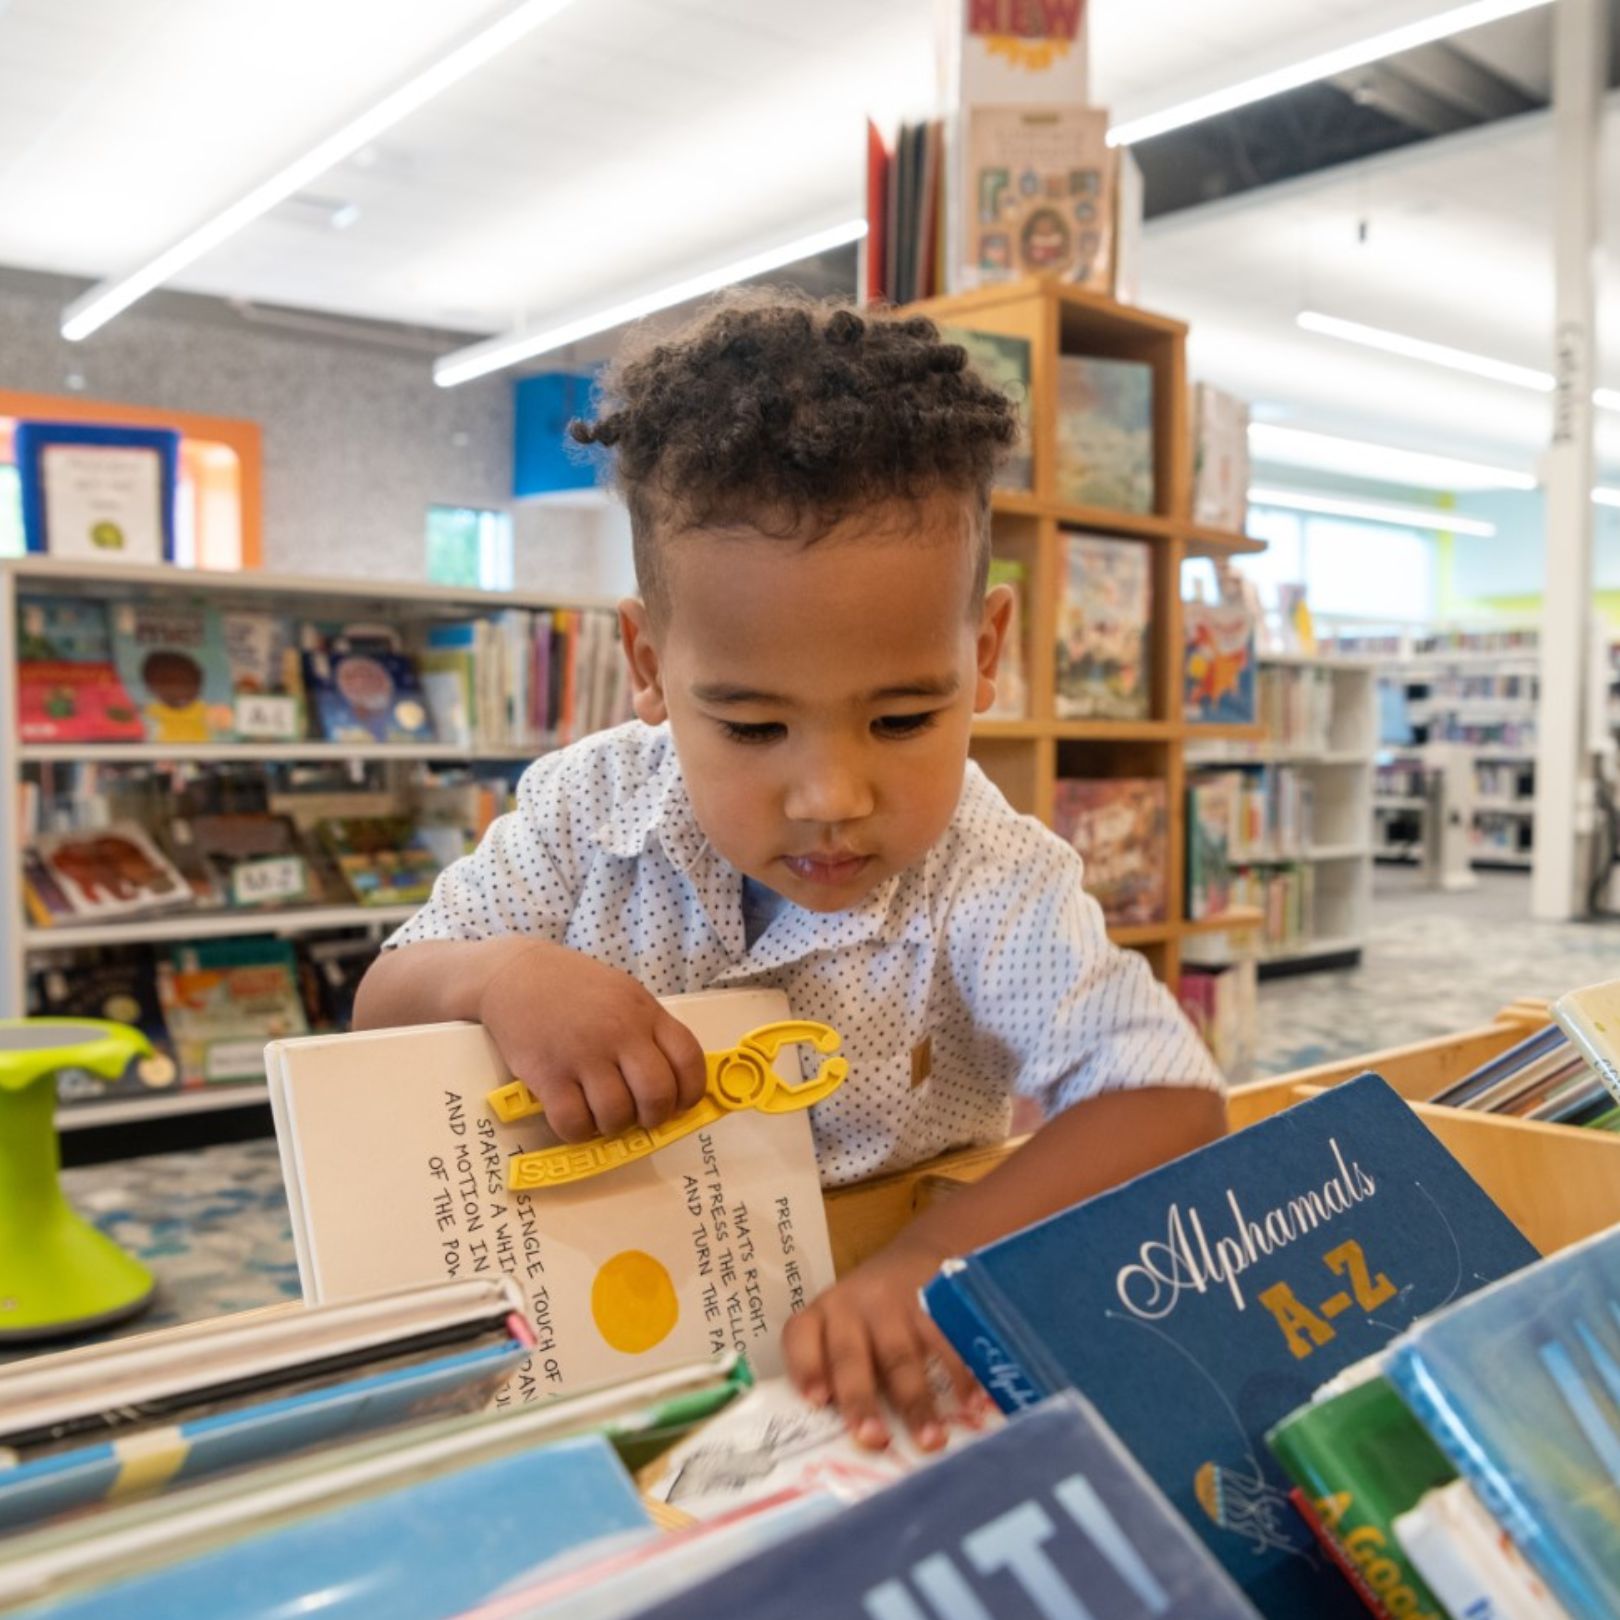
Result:
{"label": "dotted white shirt sleeve on the boy's arm nearer the Alphamals book", "polygon": [[[1013,1089],[1050,1118],[1136,1085],[1221,1089],[1220,1069],[1174,996],[1136,951],[1110,943],[1082,888],[1079,855],[1045,829],[1016,870],[1003,867],[977,925],[953,927],[951,951],[980,1038]],[[978,888],[980,885],[974,885]]]}

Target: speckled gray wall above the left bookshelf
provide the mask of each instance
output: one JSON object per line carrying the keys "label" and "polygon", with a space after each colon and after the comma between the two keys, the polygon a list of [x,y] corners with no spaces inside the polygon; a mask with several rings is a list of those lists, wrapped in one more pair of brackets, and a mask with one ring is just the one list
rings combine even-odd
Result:
{"label": "speckled gray wall above the left bookshelf", "polygon": [[[57,332],[83,284],[0,272],[0,387],[243,416],[264,433],[264,567],[420,580],[433,504],[510,507],[512,384],[433,382],[454,334],[159,293],[83,343]],[[624,588],[611,514],[517,514],[523,590]]]}

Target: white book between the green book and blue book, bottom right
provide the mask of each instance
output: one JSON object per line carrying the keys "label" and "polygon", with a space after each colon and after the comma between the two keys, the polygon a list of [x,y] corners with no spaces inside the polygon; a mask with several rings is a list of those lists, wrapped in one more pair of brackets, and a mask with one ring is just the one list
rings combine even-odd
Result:
{"label": "white book between the green book and blue book, bottom right", "polygon": [[1568,1620],[1466,1479],[1430,1490],[1395,1533],[1447,1615],[1466,1620]]}

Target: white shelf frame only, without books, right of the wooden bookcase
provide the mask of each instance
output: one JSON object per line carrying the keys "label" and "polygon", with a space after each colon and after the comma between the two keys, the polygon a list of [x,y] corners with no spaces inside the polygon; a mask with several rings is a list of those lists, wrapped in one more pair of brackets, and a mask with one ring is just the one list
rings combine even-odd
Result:
{"label": "white shelf frame only, without books, right of the wooden bookcase", "polygon": [[[1280,863],[1314,868],[1309,938],[1283,949],[1262,949],[1262,974],[1346,967],[1359,961],[1372,906],[1372,768],[1377,745],[1377,666],[1362,658],[1314,658],[1262,653],[1260,669],[1317,669],[1330,684],[1325,737],[1314,745],[1290,739],[1260,744],[1212,744],[1189,750],[1187,765],[1288,765],[1312,789],[1312,828],[1306,846]],[[1262,721],[1265,716],[1262,714]]]}

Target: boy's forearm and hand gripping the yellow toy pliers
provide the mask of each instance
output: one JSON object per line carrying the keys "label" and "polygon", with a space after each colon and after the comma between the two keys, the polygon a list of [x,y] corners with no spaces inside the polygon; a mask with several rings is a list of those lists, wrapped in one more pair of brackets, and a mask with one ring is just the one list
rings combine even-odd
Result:
{"label": "boy's forearm and hand gripping the yellow toy pliers", "polygon": [[703,1048],[629,974],[522,935],[384,951],[355,1029],[473,1019],[564,1142],[663,1124],[703,1095]]}

